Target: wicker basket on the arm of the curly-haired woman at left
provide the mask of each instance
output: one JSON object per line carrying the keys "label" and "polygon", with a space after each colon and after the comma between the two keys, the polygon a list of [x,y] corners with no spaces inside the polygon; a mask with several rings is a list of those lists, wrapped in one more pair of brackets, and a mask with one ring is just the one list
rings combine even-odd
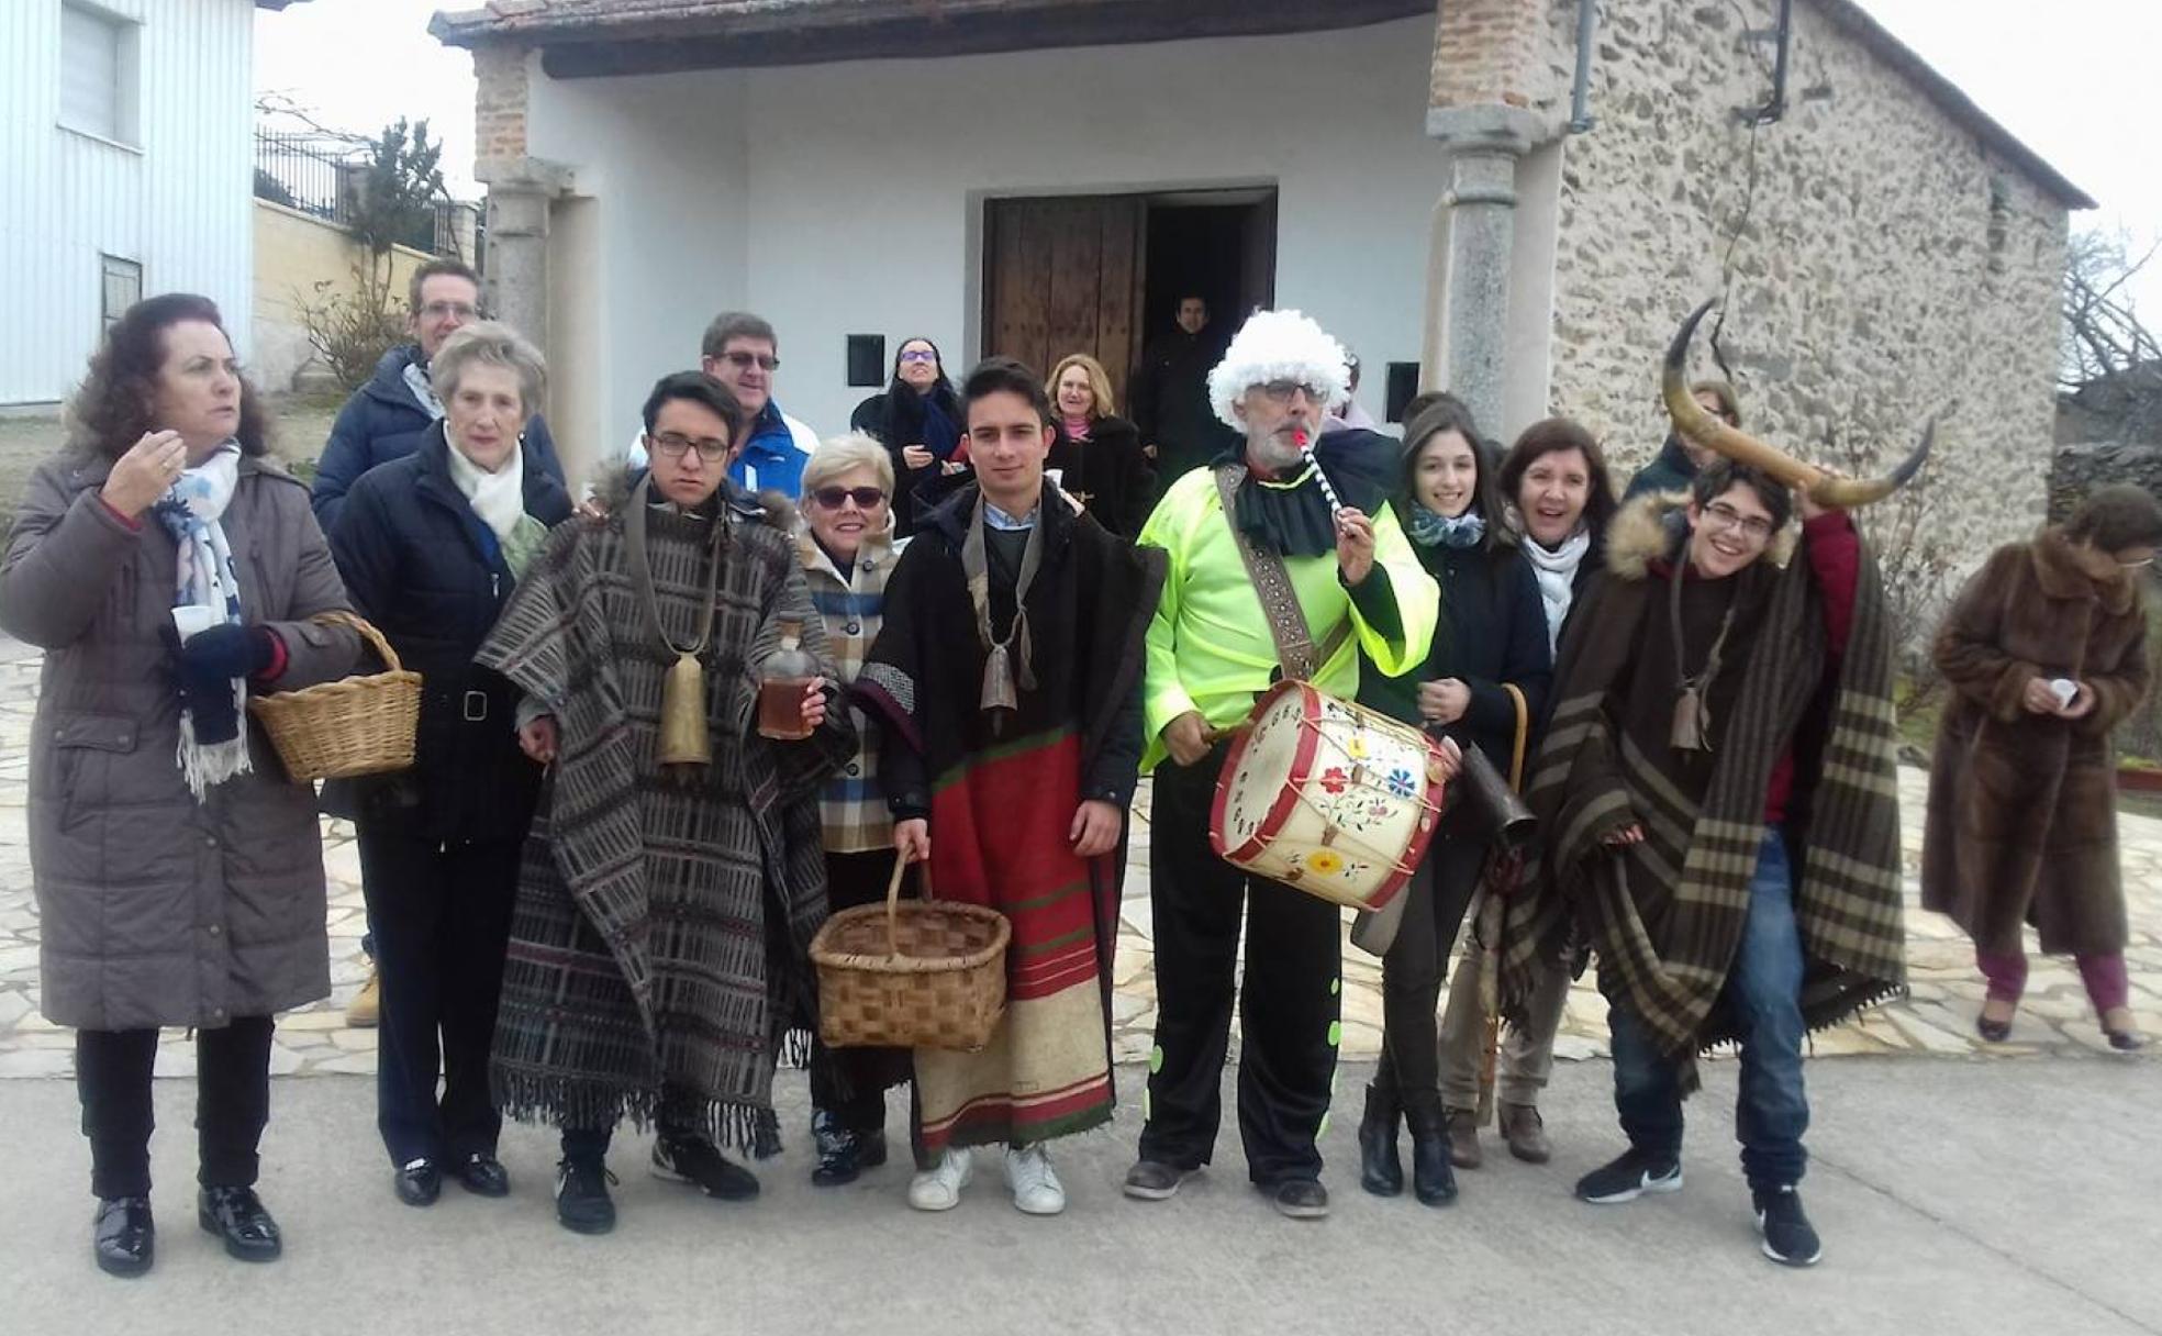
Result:
{"label": "wicker basket on the arm of the curly-haired woman at left", "polygon": [[400,668],[398,651],[383,631],[350,612],[324,612],[313,620],[359,631],[383,657],[385,670],[249,700],[249,711],[262,720],[285,761],[285,774],[305,785],[404,770],[413,763],[413,733],[419,729],[419,672]]}

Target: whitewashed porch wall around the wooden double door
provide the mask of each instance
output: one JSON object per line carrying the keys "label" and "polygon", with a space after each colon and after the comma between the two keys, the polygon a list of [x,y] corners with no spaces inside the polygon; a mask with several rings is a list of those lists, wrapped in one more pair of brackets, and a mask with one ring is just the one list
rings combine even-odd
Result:
{"label": "whitewashed porch wall around the wooden double door", "polygon": [[[1433,22],[1260,37],[688,74],[547,80],[528,147],[569,164],[599,212],[597,365],[608,430],[653,378],[692,365],[705,322],[748,305],[780,331],[778,398],[848,426],[843,335],[977,346],[986,195],[1273,184],[1280,305],[1373,370],[1418,361],[1442,158],[1425,138]],[[579,236],[588,229],[582,225]],[[556,313],[551,320],[562,320]],[[590,359],[582,359],[590,361]],[[571,391],[575,398],[575,391]]]}

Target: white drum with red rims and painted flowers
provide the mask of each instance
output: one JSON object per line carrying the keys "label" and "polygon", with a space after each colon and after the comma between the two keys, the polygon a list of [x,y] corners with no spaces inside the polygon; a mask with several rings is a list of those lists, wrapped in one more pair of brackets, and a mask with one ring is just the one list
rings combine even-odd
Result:
{"label": "white drum with red rims and painted flowers", "polygon": [[1209,845],[1226,863],[1332,904],[1403,891],[1442,813],[1442,752],[1410,724],[1282,681],[1224,759]]}

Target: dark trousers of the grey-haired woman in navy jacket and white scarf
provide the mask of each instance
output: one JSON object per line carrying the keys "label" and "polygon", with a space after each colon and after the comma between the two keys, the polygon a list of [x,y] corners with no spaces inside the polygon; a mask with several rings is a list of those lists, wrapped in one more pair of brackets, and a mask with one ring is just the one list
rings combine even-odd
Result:
{"label": "dark trousers of the grey-haired woman in navy jacket and white scarf", "polygon": [[359,832],[383,975],[383,1146],[393,1165],[495,1154],[504,1120],[489,1098],[489,1044],[504,990],[519,841],[443,845],[365,819]]}

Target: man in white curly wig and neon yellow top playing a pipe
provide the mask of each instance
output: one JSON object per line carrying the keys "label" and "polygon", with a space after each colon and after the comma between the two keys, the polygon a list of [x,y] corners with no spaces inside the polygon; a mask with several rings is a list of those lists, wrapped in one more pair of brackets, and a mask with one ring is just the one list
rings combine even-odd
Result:
{"label": "man in white curly wig and neon yellow top playing a pipe", "polygon": [[[1167,553],[1170,575],[1148,627],[1159,1010],[1131,1198],[1170,1198],[1215,1150],[1245,910],[1247,1176],[1289,1217],[1330,1208],[1314,1141],[1336,1077],[1340,914],[1217,858],[1209,806],[1224,733],[1271,681],[1306,679],[1351,698],[1360,651],[1401,674],[1433,640],[1440,594],[1384,504],[1394,443],[1334,432],[1308,447],[1345,383],[1343,346],[1306,316],[1247,320],[1209,376],[1215,413],[1245,435],[1243,447],[1178,478],[1142,530],[1144,547]],[[1265,607],[1276,607],[1273,623]]]}

